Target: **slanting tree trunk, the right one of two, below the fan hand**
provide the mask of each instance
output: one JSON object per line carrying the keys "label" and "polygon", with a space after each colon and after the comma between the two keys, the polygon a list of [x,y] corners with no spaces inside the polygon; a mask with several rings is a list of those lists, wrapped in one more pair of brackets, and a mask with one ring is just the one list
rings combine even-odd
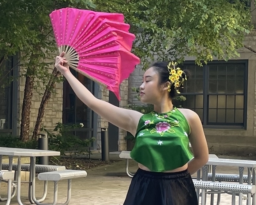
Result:
{"label": "slanting tree trunk, the right one of two, below the fan hand", "polygon": [[41,100],[41,104],[40,104],[38,115],[37,115],[37,122],[35,123],[32,139],[36,139],[37,135],[39,134],[39,131],[41,129],[42,119],[45,113],[45,106],[51,97],[53,89],[56,87],[56,79],[58,79],[59,76],[60,76],[60,72],[57,71],[57,68],[54,68],[52,71],[52,77],[50,78],[49,83],[46,86],[44,96],[42,97],[42,100]]}

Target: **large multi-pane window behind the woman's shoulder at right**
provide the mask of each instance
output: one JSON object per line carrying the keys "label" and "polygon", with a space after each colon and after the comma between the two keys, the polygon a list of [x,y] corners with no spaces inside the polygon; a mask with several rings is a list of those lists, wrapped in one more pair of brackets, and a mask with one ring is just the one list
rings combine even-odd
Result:
{"label": "large multi-pane window behind the woman's shoulder at right", "polygon": [[246,127],[247,61],[184,63],[191,78],[181,90],[181,106],[194,110],[204,126]]}

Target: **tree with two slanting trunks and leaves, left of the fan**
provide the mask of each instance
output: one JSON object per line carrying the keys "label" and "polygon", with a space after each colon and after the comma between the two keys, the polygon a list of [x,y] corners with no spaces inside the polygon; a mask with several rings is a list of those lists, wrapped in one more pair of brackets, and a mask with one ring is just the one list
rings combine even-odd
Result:
{"label": "tree with two slanting trunks and leaves, left of the fan", "polygon": [[[47,62],[48,59],[53,59],[54,51],[56,51],[49,19],[50,12],[63,7],[91,8],[91,6],[93,4],[90,0],[1,1],[0,64],[9,55],[21,52],[20,66],[24,68],[22,75],[26,77],[20,125],[22,141],[27,141],[30,137],[30,108],[33,90],[41,87],[40,82],[46,86],[33,132],[33,138],[35,138],[44,116],[45,105],[56,82],[59,81],[56,69],[53,70],[53,75],[49,73],[53,62]],[[35,79],[37,79],[36,82]]]}

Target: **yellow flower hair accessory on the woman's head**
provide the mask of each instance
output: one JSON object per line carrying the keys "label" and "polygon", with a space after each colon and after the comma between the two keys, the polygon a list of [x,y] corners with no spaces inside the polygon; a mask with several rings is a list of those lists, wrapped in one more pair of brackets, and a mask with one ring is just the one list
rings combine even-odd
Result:
{"label": "yellow flower hair accessory on the woman's head", "polygon": [[[178,87],[183,86],[183,83],[185,80],[187,80],[187,76],[184,71],[182,71],[179,67],[176,68],[177,62],[171,61],[168,64],[168,71],[170,73],[169,80],[170,80],[170,87],[168,87],[168,92],[171,91],[172,84],[174,85],[174,88],[178,94],[180,94],[180,91],[178,90]],[[185,77],[182,76],[182,74],[185,75]]]}

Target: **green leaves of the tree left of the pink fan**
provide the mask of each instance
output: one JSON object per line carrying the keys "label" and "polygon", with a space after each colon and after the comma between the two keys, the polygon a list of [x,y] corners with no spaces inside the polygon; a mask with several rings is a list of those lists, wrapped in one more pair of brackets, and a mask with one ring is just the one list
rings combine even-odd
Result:
{"label": "green leaves of the tree left of the pink fan", "polygon": [[[34,90],[46,86],[56,53],[49,14],[63,7],[94,8],[91,0],[44,0],[0,2],[0,59],[21,52],[23,76],[37,78]],[[0,60],[1,64],[1,60]],[[56,79],[60,82],[61,79]],[[39,92],[39,94],[41,94]]]}

